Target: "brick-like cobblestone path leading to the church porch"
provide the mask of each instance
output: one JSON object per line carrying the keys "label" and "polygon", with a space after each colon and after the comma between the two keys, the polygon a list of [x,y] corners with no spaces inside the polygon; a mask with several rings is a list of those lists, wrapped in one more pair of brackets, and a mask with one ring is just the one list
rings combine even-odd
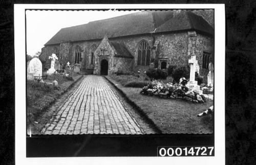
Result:
{"label": "brick-like cobblestone path leading to the church porch", "polygon": [[142,129],[110,86],[102,76],[84,76],[41,133],[141,134]]}

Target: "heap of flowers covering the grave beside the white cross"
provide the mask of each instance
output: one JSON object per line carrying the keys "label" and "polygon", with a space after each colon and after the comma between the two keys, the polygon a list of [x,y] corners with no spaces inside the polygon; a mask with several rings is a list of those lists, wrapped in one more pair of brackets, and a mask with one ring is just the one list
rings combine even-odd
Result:
{"label": "heap of flowers covering the grave beside the white cross", "polygon": [[203,103],[206,101],[206,98],[203,95],[199,95],[196,91],[189,91],[185,86],[187,83],[186,78],[181,78],[179,84],[173,84],[168,82],[163,84],[154,80],[151,84],[142,88],[141,94],[149,96],[158,96],[169,99],[183,99],[185,101],[190,101],[194,103]]}

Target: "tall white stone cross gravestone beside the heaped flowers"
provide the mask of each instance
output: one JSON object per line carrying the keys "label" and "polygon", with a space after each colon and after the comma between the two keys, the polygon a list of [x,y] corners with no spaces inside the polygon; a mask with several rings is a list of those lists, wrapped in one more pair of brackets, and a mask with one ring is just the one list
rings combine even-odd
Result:
{"label": "tall white stone cross gravestone beside the heaped flowers", "polygon": [[203,91],[200,90],[200,86],[197,85],[197,81],[195,80],[196,66],[198,65],[197,62],[198,61],[196,60],[196,56],[191,56],[191,59],[188,60],[188,63],[190,64],[190,76],[186,87],[189,91],[196,91],[197,93],[199,93],[199,95],[201,95],[203,94]]}

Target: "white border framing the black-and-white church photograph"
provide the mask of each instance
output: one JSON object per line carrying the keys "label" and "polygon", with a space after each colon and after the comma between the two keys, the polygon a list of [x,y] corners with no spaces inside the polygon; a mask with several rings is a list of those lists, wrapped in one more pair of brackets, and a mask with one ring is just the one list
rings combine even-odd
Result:
{"label": "white border framing the black-and-white church photograph", "polygon": [[[209,157],[26,157],[25,9],[215,9],[215,156]],[[225,6],[224,4],[14,5],[15,163],[16,164],[224,164],[225,163]],[[218,64],[218,65],[217,65]],[[156,149],[157,151],[157,149]]]}

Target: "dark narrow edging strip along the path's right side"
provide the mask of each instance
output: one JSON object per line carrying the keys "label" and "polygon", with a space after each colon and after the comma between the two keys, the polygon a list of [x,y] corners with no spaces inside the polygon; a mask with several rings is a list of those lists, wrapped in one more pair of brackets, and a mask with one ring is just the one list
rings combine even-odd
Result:
{"label": "dark narrow edging strip along the path's right side", "polygon": [[[124,97],[124,99],[125,99],[130,105],[132,105],[133,107],[136,108],[137,112],[141,115],[141,117],[144,118],[145,121],[146,121],[147,123],[149,123],[149,124],[153,127],[153,129],[156,131],[156,133],[154,133],[154,134],[162,134],[161,129],[154,123],[154,121],[153,121],[151,118],[149,118],[149,117],[146,115],[146,113],[140,108],[140,106],[137,105],[133,100],[131,100],[131,99],[125,94],[125,92],[123,92],[122,89],[120,89],[118,86],[116,86],[116,85],[114,84],[114,82],[112,81],[111,77],[108,77],[108,76],[103,76],[103,77],[104,77],[106,80],[108,80],[108,81],[110,82],[110,84],[112,84],[112,85],[114,86],[114,88],[117,89],[117,90],[121,93],[121,95]],[[117,84],[120,85],[118,82],[117,82]]]}

